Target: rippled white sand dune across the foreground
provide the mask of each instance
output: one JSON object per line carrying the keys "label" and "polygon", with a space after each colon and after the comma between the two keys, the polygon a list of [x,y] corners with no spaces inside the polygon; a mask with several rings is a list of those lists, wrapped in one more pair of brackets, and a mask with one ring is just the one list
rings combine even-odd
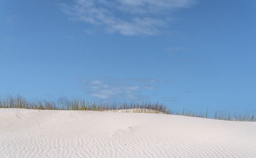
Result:
{"label": "rippled white sand dune across the foreground", "polygon": [[256,122],[0,109],[0,157],[256,157]]}

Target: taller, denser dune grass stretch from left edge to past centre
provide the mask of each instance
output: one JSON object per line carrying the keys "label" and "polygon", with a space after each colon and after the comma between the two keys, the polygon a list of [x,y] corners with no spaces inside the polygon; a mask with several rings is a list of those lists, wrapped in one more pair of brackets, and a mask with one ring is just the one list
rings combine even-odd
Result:
{"label": "taller, denser dune grass stretch from left edge to past centre", "polygon": [[20,108],[36,110],[93,110],[169,114],[168,108],[160,102],[90,102],[78,97],[66,98],[63,101],[55,102],[45,99],[28,100],[20,95],[8,95],[5,98],[0,98],[0,108]]}

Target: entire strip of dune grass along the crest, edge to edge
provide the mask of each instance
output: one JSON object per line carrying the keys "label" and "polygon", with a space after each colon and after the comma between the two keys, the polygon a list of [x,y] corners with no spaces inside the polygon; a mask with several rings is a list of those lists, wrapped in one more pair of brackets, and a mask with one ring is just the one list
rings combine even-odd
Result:
{"label": "entire strip of dune grass along the crest, edge to edge", "polygon": [[165,104],[160,102],[96,102],[86,101],[78,97],[66,98],[64,101],[55,102],[49,100],[29,100],[20,95],[7,95],[0,98],[0,108],[20,108],[36,110],[92,110],[110,111],[122,113],[153,113],[153,114],[172,114],[190,117],[211,118],[229,121],[256,121],[254,113],[230,114],[230,112],[216,111],[210,116],[208,109],[205,112],[194,112],[183,109],[181,112],[168,109]]}

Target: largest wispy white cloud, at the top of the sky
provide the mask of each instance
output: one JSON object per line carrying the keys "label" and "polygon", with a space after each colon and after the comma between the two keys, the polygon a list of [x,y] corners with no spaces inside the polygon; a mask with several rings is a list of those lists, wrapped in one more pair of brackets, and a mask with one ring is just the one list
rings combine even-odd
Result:
{"label": "largest wispy white cloud, at the top of the sky", "polygon": [[59,4],[69,19],[101,25],[122,35],[155,35],[175,18],[172,13],[188,8],[196,0],[75,0]]}

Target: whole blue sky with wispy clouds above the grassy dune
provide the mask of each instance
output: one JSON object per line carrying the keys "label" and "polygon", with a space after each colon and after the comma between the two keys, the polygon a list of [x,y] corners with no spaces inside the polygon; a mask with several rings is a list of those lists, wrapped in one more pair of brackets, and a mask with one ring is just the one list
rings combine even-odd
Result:
{"label": "whole blue sky with wispy clouds above the grassy dune", "polygon": [[0,95],[256,110],[256,1],[0,1]]}

